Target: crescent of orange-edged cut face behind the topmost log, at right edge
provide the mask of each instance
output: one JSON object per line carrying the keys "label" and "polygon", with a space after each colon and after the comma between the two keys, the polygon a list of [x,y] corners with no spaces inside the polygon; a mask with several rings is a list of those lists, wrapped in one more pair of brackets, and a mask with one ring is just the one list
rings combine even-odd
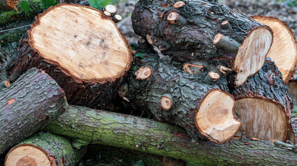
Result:
{"label": "crescent of orange-edged cut face behind the topmost log, at right edge", "polygon": [[278,18],[266,16],[253,16],[252,19],[269,26],[273,30],[273,44],[267,57],[275,62],[278,70],[282,73],[284,84],[288,84],[295,73],[297,62],[296,39],[284,21]]}

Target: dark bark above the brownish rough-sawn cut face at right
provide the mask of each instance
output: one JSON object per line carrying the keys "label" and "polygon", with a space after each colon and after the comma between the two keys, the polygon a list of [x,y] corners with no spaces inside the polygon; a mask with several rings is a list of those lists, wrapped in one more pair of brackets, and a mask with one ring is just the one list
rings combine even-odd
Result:
{"label": "dark bark above the brownish rough-sawn cut face at right", "polygon": [[[230,75],[231,76],[231,75]],[[229,77],[234,80],[234,77]],[[239,87],[234,87],[232,81],[229,82],[230,93],[235,100],[240,98],[263,98],[280,103],[284,106],[289,118],[294,107],[294,100],[288,93],[287,86],[282,80],[282,73],[278,71],[278,66],[268,57],[261,70],[250,77],[246,83]]]}

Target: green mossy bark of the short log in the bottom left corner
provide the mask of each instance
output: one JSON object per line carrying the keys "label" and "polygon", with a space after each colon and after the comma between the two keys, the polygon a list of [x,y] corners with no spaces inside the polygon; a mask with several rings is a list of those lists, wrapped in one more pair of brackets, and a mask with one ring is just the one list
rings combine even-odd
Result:
{"label": "green mossy bark of the short log in the bottom left corner", "polygon": [[[72,147],[72,142],[68,138],[64,138],[53,133],[41,132],[22,142],[19,142],[17,146],[10,149],[6,155],[6,161],[14,149],[32,145],[42,149],[42,151],[47,155],[47,158],[51,160],[51,165],[76,165],[83,155],[86,154],[86,146],[76,149]],[[21,158],[22,154],[19,156]],[[9,165],[9,163],[6,163],[6,165]]]}

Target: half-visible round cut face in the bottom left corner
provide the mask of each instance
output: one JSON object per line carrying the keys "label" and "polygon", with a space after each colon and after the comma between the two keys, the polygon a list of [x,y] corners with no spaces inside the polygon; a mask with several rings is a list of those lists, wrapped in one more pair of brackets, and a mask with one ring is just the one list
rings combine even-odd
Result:
{"label": "half-visible round cut face in the bottom left corner", "polygon": [[8,152],[5,166],[51,166],[51,161],[43,151],[31,146],[20,146]]}

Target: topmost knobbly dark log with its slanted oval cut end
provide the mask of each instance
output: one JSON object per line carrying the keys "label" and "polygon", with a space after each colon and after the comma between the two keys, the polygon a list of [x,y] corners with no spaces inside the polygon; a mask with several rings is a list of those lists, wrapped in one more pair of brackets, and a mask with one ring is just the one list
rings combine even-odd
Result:
{"label": "topmost knobbly dark log with its slanted oval cut end", "polygon": [[[181,62],[226,59],[239,86],[262,68],[273,41],[271,28],[216,1],[138,1],[132,13],[136,34]],[[225,30],[225,24],[231,29]]]}

